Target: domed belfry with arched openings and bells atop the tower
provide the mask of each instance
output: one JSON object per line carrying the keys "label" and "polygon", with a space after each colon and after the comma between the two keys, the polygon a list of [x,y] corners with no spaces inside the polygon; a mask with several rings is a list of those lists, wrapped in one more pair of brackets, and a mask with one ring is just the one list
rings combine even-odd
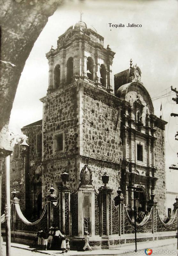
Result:
{"label": "domed belfry with arched openings and bells atop the tower", "polygon": [[80,20],[58,37],[57,49],[46,54],[49,61],[48,92],[71,84],[76,78],[87,80],[113,92],[112,60],[114,52],[104,48],[104,38]]}

